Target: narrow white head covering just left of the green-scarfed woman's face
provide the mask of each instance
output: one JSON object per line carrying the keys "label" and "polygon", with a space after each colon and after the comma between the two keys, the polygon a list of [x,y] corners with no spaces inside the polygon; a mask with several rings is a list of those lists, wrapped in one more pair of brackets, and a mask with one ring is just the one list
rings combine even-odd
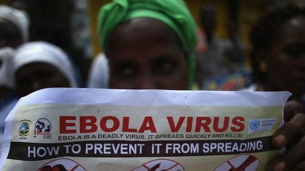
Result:
{"label": "narrow white head covering just left of the green-scarfed woman's face", "polygon": [[109,66],[104,53],[100,53],[93,60],[88,74],[88,88],[108,88]]}

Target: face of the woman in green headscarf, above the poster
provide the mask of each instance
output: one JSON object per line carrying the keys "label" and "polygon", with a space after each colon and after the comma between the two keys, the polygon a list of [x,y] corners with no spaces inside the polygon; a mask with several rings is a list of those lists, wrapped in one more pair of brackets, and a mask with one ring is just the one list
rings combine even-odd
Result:
{"label": "face of the woman in green headscarf, above the poster", "polygon": [[187,62],[174,31],[155,19],[132,19],[109,37],[109,87],[187,88]]}

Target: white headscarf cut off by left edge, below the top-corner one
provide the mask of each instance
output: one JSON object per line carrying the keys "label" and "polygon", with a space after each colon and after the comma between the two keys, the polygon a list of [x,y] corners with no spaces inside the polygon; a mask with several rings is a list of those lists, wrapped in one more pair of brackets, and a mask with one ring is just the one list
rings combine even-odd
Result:
{"label": "white headscarf cut off by left edge, below the top-corner one", "polygon": [[13,88],[12,72],[12,57],[14,56],[14,49],[11,47],[4,47],[0,49],[0,86]]}

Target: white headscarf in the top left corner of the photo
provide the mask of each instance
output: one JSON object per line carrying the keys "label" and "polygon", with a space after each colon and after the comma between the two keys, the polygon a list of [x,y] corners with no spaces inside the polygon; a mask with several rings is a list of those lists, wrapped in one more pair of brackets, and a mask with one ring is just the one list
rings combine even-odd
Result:
{"label": "white headscarf in the top left corner of the photo", "polygon": [[7,5],[0,5],[0,18],[7,19],[16,25],[22,33],[23,42],[29,39],[29,18],[25,11]]}

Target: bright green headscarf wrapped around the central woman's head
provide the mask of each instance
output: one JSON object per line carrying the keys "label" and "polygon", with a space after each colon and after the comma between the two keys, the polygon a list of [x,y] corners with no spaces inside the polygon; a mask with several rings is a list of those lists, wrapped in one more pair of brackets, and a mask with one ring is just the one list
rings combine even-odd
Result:
{"label": "bright green headscarf wrapped around the central woman's head", "polygon": [[98,33],[105,41],[122,22],[135,18],[152,18],[170,26],[181,39],[188,56],[188,88],[194,83],[197,32],[195,21],[183,0],[113,0],[103,6],[98,16]]}

